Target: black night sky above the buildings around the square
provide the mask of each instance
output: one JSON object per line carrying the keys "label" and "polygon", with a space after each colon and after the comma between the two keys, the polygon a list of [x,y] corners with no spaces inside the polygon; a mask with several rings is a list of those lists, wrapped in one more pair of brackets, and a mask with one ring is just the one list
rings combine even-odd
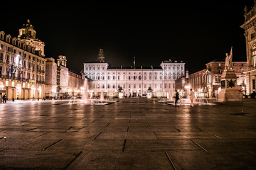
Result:
{"label": "black night sky above the buildings around the square", "polygon": [[[61,2],[3,4],[0,30],[18,35],[26,19],[45,42],[46,57],[66,55],[68,68],[97,59],[99,48],[112,67],[159,66],[163,60],[183,60],[190,73],[225,58],[233,46],[234,58],[246,58],[244,7],[252,0],[166,4],[161,1],[127,4]],[[167,2],[167,1],[166,1]],[[24,2],[25,3],[25,2]],[[30,2],[31,3],[31,2]]]}

